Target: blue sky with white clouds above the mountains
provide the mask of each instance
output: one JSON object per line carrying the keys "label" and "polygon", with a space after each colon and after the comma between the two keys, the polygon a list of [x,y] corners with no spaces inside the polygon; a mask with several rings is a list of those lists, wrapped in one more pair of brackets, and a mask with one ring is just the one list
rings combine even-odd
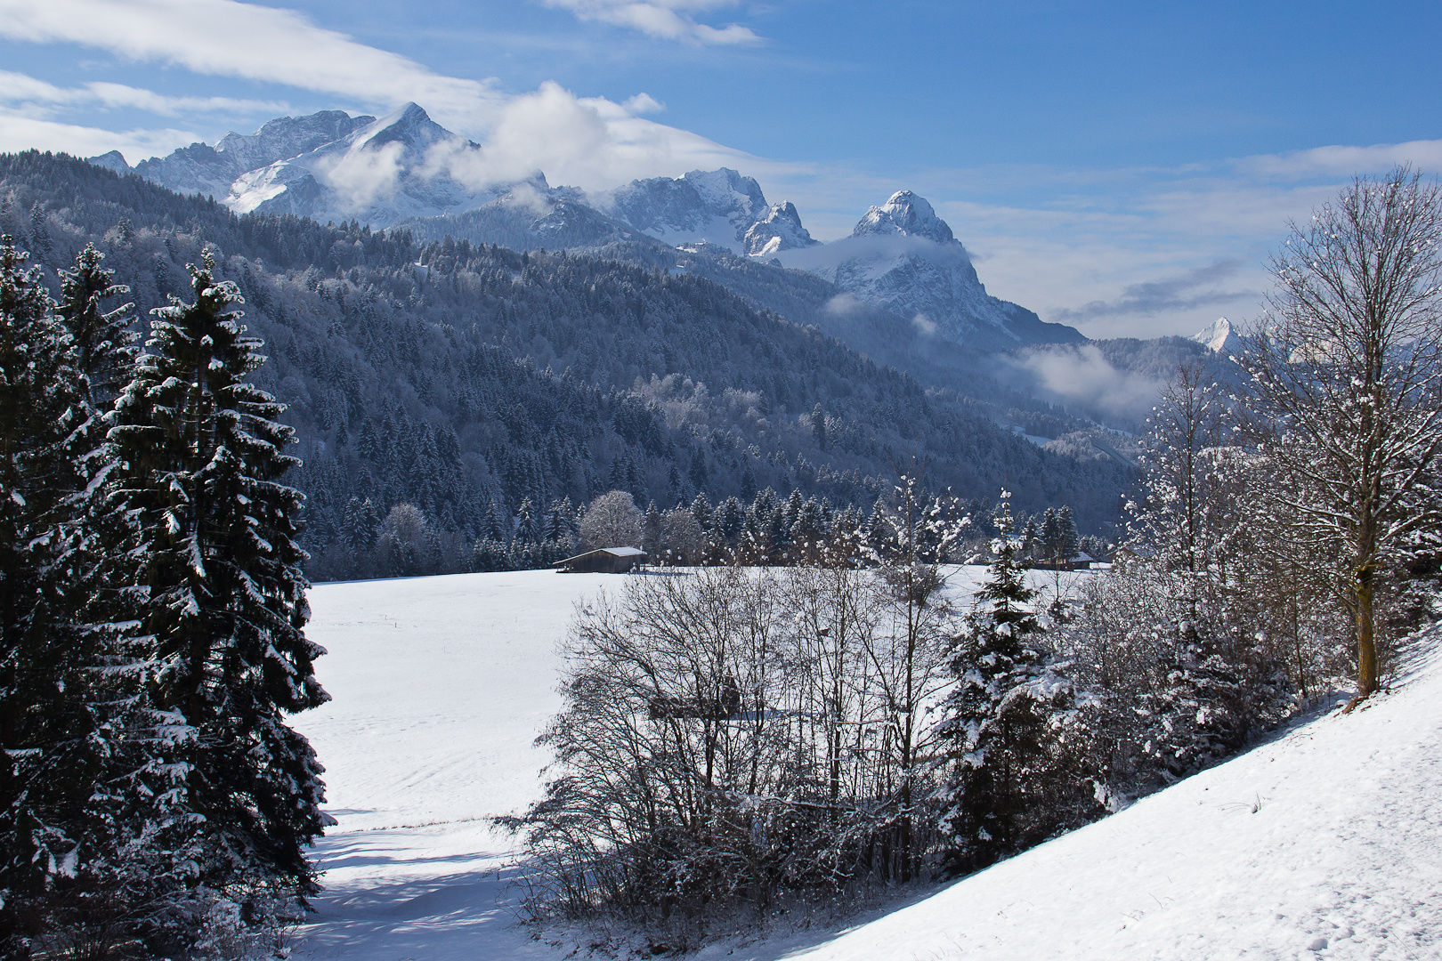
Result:
{"label": "blue sky with white clouds above the mountains", "polygon": [[1246,320],[1291,218],[1442,169],[1430,3],[0,0],[0,148],[136,161],[415,99],[552,183],[722,163],[820,238],[927,196],[1092,336]]}

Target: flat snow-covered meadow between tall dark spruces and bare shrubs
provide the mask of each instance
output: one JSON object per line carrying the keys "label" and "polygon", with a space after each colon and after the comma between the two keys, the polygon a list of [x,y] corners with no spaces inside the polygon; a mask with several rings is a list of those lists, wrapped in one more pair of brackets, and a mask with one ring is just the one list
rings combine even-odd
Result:
{"label": "flat snow-covered meadow between tall dark spruces and bare shrubs", "polygon": [[492,814],[539,795],[532,741],[559,707],[555,643],[619,578],[554,571],[326,584],[307,634],[330,703],[296,718],[339,821],[316,846],[313,958],[552,957],[515,926]]}

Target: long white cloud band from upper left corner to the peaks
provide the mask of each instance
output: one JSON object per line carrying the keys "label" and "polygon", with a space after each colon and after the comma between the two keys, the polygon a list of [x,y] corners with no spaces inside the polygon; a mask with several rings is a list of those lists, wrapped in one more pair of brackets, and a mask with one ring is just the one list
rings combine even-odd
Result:
{"label": "long white cloud band from upper left corner to the peaks", "polygon": [[[672,4],[679,12],[707,6],[714,4]],[[705,137],[645,120],[640,114],[662,108],[646,94],[616,104],[581,98],[547,82],[529,94],[505,95],[495,81],[441,76],[404,56],[316,26],[291,10],[235,0],[48,0],[43,4],[0,0],[0,36],[81,43],[196,73],[268,81],[388,108],[415,101],[437,122],[485,144],[480,158],[437,158],[440,166],[454,163],[457,169],[451,173],[467,183],[513,180],[539,169],[552,183],[601,190],[633,177],[676,176],[695,167],[779,169]],[[221,99],[190,98],[193,102],[187,102],[118,84],[66,91],[14,76],[25,82],[9,98],[13,117],[58,120],[48,108],[79,107],[81,99],[134,105],[166,115],[186,109],[228,109]],[[12,135],[0,133],[0,150],[72,151],[76,143],[104,141],[94,131],[81,137],[75,133],[81,128],[63,124],[12,125],[9,130]],[[154,140],[170,143],[164,135]],[[147,143],[144,137],[117,134],[105,150],[118,147],[131,157],[143,143]],[[368,190],[368,182],[362,176],[358,189]]]}

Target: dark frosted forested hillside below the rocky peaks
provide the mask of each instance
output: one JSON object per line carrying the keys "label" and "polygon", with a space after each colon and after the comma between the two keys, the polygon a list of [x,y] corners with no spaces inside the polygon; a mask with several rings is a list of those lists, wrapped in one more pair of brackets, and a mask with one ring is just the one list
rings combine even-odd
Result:
{"label": "dark frosted forested hillside below the rocky peaks", "polygon": [[255,379],[297,428],[290,480],[310,496],[317,558],[401,503],[424,513],[437,563],[459,568],[487,530],[509,536],[525,500],[541,514],[616,487],[642,506],[766,487],[870,506],[921,470],[962,497],[1005,481],[1025,510],[1070,504],[1092,532],[1129,483],[689,272],[235,216],[35,151],[0,157],[0,231],[52,269],[94,242],[140,326],[218,251],[267,344]]}

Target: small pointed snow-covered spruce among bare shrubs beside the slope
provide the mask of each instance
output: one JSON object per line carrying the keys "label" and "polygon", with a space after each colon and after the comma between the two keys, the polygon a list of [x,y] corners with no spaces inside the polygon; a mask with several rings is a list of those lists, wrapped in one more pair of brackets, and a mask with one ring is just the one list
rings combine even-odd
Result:
{"label": "small pointed snow-covered spruce among bare shrubs beside the slope", "polygon": [[956,686],[937,732],[950,777],[946,866],[966,873],[1100,815],[1087,725],[1043,643],[1002,491],[994,560],[952,648]]}

